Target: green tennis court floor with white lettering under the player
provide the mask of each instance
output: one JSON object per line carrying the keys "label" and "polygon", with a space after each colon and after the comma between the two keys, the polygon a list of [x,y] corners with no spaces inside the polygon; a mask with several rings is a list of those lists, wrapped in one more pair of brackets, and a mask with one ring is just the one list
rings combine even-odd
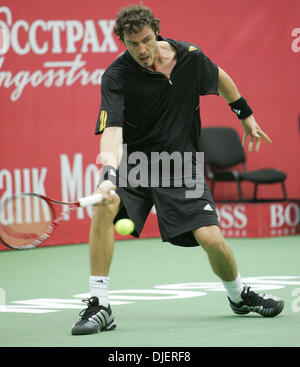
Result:
{"label": "green tennis court floor with white lettering under the player", "polygon": [[2,251],[0,346],[299,347],[299,236],[228,242],[247,283],[285,300],[281,315],[233,314],[200,247],[118,241],[110,273],[118,327],[72,336],[88,292],[88,245]]}

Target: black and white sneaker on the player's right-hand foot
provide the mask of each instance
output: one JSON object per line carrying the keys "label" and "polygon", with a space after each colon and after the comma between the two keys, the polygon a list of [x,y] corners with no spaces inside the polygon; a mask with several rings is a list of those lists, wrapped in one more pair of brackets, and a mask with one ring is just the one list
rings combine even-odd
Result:
{"label": "black and white sneaker on the player's right-hand foot", "polygon": [[232,311],[238,315],[246,315],[252,311],[265,317],[274,317],[280,314],[284,307],[284,302],[279,297],[254,292],[247,285],[241,297],[243,301],[240,303],[234,303],[228,298]]}

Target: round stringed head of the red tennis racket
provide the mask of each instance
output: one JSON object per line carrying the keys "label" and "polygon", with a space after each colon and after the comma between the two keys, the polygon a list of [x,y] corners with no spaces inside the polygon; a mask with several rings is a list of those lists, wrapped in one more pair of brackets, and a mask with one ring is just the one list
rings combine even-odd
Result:
{"label": "round stringed head of the red tennis racket", "polygon": [[46,200],[34,195],[15,196],[0,210],[1,241],[13,248],[36,246],[52,230],[53,218],[53,208]]}

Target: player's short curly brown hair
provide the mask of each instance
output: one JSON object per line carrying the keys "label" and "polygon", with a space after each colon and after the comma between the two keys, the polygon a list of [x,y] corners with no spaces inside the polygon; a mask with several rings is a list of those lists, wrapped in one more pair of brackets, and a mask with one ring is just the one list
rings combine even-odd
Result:
{"label": "player's short curly brown hair", "polygon": [[138,33],[141,29],[149,25],[153,31],[158,34],[160,30],[160,21],[155,19],[152,11],[143,5],[129,5],[121,8],[117,14],[114,33],[124,42],[125,33]]}

